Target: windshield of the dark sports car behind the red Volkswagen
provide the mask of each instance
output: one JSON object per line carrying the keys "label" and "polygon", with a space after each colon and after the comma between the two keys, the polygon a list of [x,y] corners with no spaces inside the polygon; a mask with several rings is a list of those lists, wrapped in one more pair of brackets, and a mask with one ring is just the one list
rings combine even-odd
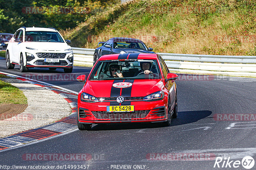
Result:
{"label": "windshield of the dark sports car behind the red Volkswagen", "polygon": [[131,40],[115,40],[114,41],[114,48],[132,48],[132,49],[140,49],[140,50],[148,50],[146,45],[140,41],[140,40],[136,40],[136,39],[131,39]]}

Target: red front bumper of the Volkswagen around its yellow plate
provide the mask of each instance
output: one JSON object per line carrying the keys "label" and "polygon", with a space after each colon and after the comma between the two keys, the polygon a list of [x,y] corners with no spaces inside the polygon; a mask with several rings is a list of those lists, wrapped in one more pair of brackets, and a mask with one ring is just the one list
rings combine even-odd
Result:
{"label": "red front bumper of the Volkswagen around its yellow plate", "polygon": [[164,122],[167,120],[165,98],[152,102],[131,102],[134,106],[133,112],[107,112],[110,102],[87,103],[81,102],[79,97],[77,103],[79,123]]}

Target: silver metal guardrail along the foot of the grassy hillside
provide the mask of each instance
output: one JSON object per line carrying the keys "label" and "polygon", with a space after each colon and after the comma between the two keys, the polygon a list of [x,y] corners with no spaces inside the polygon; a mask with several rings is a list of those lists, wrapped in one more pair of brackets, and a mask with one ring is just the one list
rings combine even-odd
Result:
{"label": "silver metal guardrail along the foot of the grassy hillside", "polygon": [[[95,49],[74,48],[74,63],[91,65]],[[158,53],[172,71],[256,77],[256,56]]]}

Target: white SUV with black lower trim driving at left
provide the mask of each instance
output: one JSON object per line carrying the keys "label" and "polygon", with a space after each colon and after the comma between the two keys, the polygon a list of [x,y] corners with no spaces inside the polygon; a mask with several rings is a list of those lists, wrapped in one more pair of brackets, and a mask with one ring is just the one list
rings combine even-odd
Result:
{"label": "white SUV with black lower trim driving at left", "polygon": [[20,27],[6,48],[6,68],[13,69],[17,64],[20,72],[40,67],[64,68],[65,73],[71,73],[73,51],[70,43],[54,28]]}

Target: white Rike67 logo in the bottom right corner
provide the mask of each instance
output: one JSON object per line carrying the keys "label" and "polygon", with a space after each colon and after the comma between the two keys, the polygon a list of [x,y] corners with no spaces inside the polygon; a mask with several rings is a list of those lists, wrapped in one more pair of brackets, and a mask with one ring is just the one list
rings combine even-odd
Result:
{"label": "white Rike67 logo in the bottom right corner", "polygon": [[215,160],[215,163],[214,163],[214,168],[215,167],[218,167],[218,168],[238,168],[239,166],[242,166],[245,168],[245,169],[251,169],[253,166],[254,166],[254,159],[251,157],[251,156],[245,156],[243,159],[242,159],[242,162],[240,160],[230,160],[230,157],[227,158],[224,158],[222,159],[221,157],[217,157],[216,160]]}

